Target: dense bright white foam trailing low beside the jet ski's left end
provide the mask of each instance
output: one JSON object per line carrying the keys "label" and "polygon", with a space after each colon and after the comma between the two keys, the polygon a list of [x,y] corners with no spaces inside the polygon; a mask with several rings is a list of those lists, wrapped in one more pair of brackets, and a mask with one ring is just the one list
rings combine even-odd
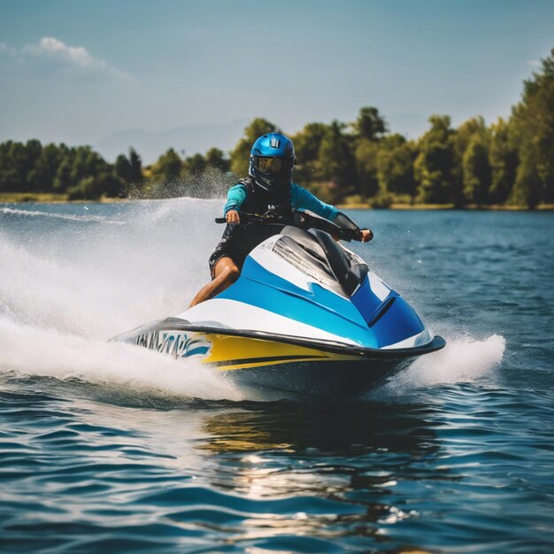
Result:
{"label": "dense bright white foam trailing low beside the jet ski's left end", "polygon": [[9,319],[0,319],[0,371],[212,400],[243,399],[224,376],[194,360],[178,361],[121,342],[65,335]]}

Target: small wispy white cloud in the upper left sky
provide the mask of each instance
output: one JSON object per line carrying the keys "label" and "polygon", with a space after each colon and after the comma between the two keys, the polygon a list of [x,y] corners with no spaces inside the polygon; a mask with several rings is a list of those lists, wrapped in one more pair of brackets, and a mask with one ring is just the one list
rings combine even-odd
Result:
{"label": "small wispy white cloud in the upper left sky", "polygon": [[45,36],[37,44],[27,44],[20,50],[0,42],[0,54],[35,64],[49,65],[58,73],[107,75],[116,79],[128,77],[127,73],[109,65],[103,59],[92,57],[84,46],[69,46],[53,36]]}

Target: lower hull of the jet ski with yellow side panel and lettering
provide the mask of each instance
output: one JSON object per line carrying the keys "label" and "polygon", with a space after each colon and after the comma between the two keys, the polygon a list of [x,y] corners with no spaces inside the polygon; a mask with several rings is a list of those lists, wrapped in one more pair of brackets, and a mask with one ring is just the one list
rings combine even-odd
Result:
{"label": "lower hull of the jet ski with yellow side panel and lettering", "polygon": [[113,340],[155,350],[176,359],[196,358],[241,387],[271,390],[281,398],[359,396],[392,377],[421,354],[444,346],[435,337],[425,346],[374,350],[296,336],[198,327],[168,318]]}

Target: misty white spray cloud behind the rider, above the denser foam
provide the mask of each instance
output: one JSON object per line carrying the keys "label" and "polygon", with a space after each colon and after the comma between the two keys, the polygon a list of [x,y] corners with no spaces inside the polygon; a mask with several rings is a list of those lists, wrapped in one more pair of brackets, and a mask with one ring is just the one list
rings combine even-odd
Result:
{"label": "misty white spray cloud behind the rider, above the denser foam", "polygon": [[0,233],[0,315],[108,339],[181,312],[209,280],[207,258],[221,229],[206,223],[217,206],[187,198],[134,203],[112,216],[123,223],[116,228],[104,219],[60,220],[44,235],[37,219],[35,232]]}

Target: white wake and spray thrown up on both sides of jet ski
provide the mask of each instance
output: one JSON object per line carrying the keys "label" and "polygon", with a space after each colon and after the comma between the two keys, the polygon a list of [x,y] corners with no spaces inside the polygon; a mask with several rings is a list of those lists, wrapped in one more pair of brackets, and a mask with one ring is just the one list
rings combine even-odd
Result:
{"label": "white wake and spray thrown up on both sides of jet ski", "polygon": [[[105,216],[0,208],[8,216],[0,219],[0,373],[246,399],[197,361],[107,342],[187,307],[209,279],[220,208],[220,200],[190,198],[121,204]],[[444,350],[416,360],[386,389],[473,381],[504,356],[502,336],[446,338]]]}

